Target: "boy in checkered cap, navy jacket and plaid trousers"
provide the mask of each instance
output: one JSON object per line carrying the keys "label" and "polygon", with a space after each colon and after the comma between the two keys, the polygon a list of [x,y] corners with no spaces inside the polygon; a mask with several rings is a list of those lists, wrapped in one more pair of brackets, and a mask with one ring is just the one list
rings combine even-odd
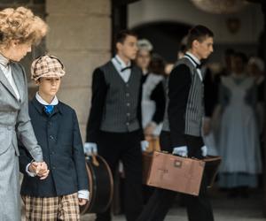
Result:
{"label": "boy in checkered cap, navy jacket and plaid trousers", "polygon": [[47,179],[38,179],[32,157],[20,147],[26,218],[80,220],[79,205],[89,200],[88,176],[75,111],[56,96],[64,66],[59,58],[46,55],[35,59],[31,74],[39,88],[28,111],[50,173]]}

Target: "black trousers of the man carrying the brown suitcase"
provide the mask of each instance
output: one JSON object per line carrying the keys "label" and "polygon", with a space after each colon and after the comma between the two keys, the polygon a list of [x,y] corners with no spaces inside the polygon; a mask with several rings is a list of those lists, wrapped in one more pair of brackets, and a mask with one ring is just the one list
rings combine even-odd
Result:
{"label": "black trousers of the man carrying the brown suitcase", "polygon": [[[186,135],[189,156],[202,158],[201,147],[203,141],[201,137]],[[160,148],[172,153],[172,145],[169,132],[160,133]],[[189,221],[213,221],[212,207],[207,197],[207,184],[203,177],[199,196],[184,195],[184,203],[187,208]],[[176,180],[178,182],[178,180]],[[149,202],[145,205],[137,221],[162,221],[166,217],[168,210],[176,199],[176,192],[156,188]]]}

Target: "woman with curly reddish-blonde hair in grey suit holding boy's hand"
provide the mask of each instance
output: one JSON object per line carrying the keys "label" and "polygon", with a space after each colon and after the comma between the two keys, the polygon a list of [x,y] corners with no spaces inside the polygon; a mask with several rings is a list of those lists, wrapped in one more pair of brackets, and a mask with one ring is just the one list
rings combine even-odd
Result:
{"label": "woman with curly reddish-blonde hair in grey suit holding boy's hand", "polygon": [[49,171],[27,111],[27,77],[17,62],[40,42],[47,25],[19,7],[0,11],[0,220],[20,221],[19,150],[17,138],[34,161],[29,166],[45,179]]}

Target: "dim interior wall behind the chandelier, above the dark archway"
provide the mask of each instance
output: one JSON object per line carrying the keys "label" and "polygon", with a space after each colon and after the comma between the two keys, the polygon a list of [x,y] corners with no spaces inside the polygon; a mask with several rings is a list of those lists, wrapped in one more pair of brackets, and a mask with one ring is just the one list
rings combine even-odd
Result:
{"label": "dim interior wall behind the chandelier, above the dark archway", "polygon": [[[241,21],[237,34],[231,34],[225,20],[236,17]],[[262,32],[262,10],[259,4],[248,4],[243,11],[215,15],[198,10],[190,0],[141,0],[129,4],[129,27],[154,21],[176,21],[188,25],[205,25],[215,33],[215,42],[254,43]]]}

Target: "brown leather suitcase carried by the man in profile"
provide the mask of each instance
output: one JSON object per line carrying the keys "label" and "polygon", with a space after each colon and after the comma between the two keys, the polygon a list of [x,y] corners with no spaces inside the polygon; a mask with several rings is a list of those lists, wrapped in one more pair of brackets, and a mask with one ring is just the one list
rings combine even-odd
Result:
{"label": "brown leather suitcase carried by the man in profile", "polygon": [[155,151],[146,183],[152,187],[199,195],[204,167],[202,160]]}

